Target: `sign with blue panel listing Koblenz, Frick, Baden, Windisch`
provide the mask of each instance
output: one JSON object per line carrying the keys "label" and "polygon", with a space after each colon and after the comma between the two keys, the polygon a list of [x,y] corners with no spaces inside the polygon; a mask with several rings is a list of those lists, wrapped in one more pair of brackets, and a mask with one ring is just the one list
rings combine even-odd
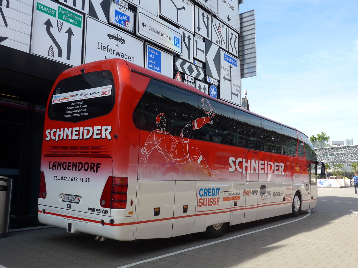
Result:
{"label": "sign with blue panel listing Koblenz, Frick, Baden, Windisch", "polygon": [[150,44],[146,44],[145,47],[145,68],[171,78],[173,76],[173,54]]}

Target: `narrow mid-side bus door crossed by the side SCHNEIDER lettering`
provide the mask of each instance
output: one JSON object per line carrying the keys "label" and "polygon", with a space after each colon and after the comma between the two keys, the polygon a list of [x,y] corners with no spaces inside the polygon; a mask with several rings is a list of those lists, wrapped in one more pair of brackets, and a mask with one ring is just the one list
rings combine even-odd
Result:
{"label": "narrow mid-side bus door crossed by the side SCHNEIDER lettering", "polygon": [[247,152],[246,159],[242,161],[242,172],[246,174],[246,189],[243,191],[243,197],[245,198],[244,222],[256,220],[257,216],[258,172],[256,171],[258,169],[250,170],[253,168],[252,161],[259,163],[257,152]]}

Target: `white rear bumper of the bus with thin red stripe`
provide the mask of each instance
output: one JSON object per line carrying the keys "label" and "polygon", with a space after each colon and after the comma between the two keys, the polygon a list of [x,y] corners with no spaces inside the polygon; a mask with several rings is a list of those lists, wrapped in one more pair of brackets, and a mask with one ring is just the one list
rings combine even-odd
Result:
{"label": "white rear bumper of the bus with thin red stripe", "polygon": [[[134,234],[134,216],[108,217],[91,213],[48,207],[39,204],[40,223],[64,228],[69,233],[86,233],[115,240],[131,241]],[[113,223],[111,223],[113,222]]]}

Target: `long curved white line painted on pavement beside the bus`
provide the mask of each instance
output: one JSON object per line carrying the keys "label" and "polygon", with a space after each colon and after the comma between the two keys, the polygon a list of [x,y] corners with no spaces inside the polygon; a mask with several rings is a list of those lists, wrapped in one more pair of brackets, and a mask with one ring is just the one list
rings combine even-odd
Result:
{"label": "long curved white line painted on pavement beside the bus", "polygon": [[242,236],[245,236],[245,235],[248,235],[248,234],[258,233],[258,232],[261,232],[261,231],[264,231],[264,230],[267,230],[267,229],[279,227],[279,226],[281,226],[281,225],[289,224],[289,223],[292,223],[292,222],[297,222],[297,221],[299,221],[299,220],[303,220],[304,218],[307,218],[307,217],[311,214],[311,211],[310,211],[309,209],[308,209],[307,211],[308,211],[308,214],[305,215],[305,216],[302,217],[302,218],[299,218],[299,219],[295,219],[295,220],[291,220],[291,221],[289,221],[289,222],[285,222],[285,223],[273,225],[273,226],[270,226],[270,227],[262,228],[262,229],[259,229],[259,230],[256,230],[256,231],[252,231],[252,232],[248,232],[248,233],[245,233],[245,234],[235,235],[235,236],[233,236],[233,237],[224,238],[224,239],[217,240],[217,241],[214,241],[214,242],[211,242],[211,243],[206,243],[206,244],[202,244],[202,245],[197,245],[197,246],[192,247],[192,248],[182,249],[182,250],[179,250],[179,251],[176,251],[176,252],[172,252],[172,253],[168,253],[168,254],[165,254],[165,255],[161,255],[161,256],[158,256],[158,257],[154,257],[154,258],[150,258],[150,259],[146,259],[146,260],[141,260],[140,262],[135,262],[135,263],[127,264],[127,265],[124,265],[124,266],[120,266],[120,267],[118,267],[118,268],[132,267],[132,266],[137,265],[137,264],[146,263],[146,262],[151,262],[152,260],[157,260],[157,259],[165,258],[165,257],[172,256],[172,255],[175,255],[175,254],[183,253],[183,252],[186,252],[186,251],[189,251],[189,250],[206,247],[206,246],[208,246],[208,245],[217,244],[217,243],[224,242],[224,241],[227,241],[227,240],[231,240],[231,239],[234,239],[234,238],[242,237]]}

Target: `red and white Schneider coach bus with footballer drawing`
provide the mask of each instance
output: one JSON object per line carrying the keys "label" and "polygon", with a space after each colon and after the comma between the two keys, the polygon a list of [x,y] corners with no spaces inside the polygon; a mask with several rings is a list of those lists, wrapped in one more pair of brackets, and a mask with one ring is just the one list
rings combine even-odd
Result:
{"label": "red and white Schneider coach bus with footballer drawing", "polygon": [[314,208],[300,131],[121,59],[64,71],[44,125],[39,221],[100,238],[207,232]]}

